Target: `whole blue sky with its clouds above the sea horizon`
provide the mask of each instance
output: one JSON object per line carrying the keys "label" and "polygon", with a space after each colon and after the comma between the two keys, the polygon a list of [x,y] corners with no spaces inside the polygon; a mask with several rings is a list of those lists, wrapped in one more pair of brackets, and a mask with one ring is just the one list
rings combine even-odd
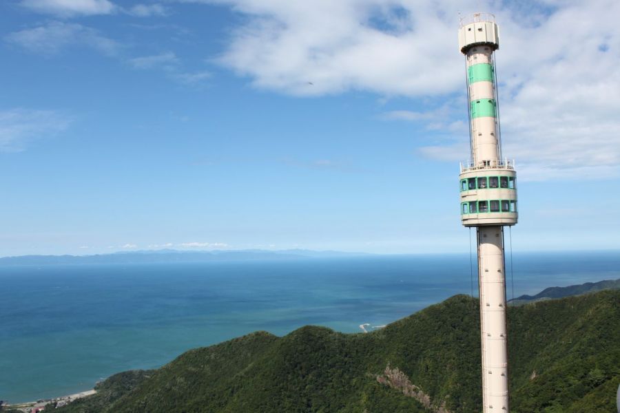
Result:
{"label": "whole blue sky with its clouds above the sea horizon", "polygon": [[[468,251],[464,1],[0,5],[0,255]],[[620,248],[616,1],[479,2],[515,251]]]}

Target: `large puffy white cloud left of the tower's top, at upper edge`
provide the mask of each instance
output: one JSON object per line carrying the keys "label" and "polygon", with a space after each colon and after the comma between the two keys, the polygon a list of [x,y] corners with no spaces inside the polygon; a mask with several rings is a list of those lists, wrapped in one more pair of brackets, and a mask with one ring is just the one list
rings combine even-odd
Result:
{"label": "large puffy white cloud left of the tower's top, at upper edge", "polygon": [[[207,1],[203,1],[207,2]],[[218,61],[256,87],[319,95],[450,92],[456,9],[435,1],[219,0],[248,19]],[[443,17],[440,17],[443,16]],[[441,64],[438,64],[441,63]]]}

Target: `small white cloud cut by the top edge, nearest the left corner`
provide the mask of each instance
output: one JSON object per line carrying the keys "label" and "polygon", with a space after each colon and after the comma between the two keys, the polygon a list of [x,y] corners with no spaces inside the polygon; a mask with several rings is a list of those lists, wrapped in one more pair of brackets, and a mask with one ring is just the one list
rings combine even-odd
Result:
{"label": "small white cloud cut by the top edge, nearest the left corner", "polygon": [[108,0],[22,0],[20,4],[35,12],[59,17],[111,14],[117,9],[114,3]]}

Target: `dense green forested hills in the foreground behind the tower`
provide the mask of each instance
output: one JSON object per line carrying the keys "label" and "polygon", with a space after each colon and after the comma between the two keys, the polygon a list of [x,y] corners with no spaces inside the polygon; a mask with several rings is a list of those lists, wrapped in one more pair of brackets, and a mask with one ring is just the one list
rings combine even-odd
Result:
{"label": "dense green forested hills in the foreground behind the tower", "polygon": [[[513,412],[613,412],[620,290],[508,309]],[[479,313],[464,295],[368,334],[307,326],[116,374],[72,412],[479,412]]]}

